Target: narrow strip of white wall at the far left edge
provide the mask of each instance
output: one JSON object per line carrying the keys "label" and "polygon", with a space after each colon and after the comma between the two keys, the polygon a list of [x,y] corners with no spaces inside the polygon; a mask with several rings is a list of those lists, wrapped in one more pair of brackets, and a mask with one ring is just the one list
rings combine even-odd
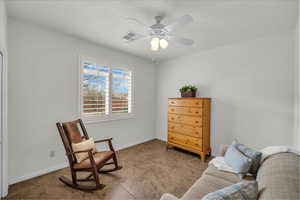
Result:
{"label": "narrow strip of white wall at the far left edge", "polygon": [[[4,0],[0,0],[0,51],[3,53],[4,66],[1,69],[0,89],[0,197],[7,195],[7,44],[6,44],[6,7]],[[1,178],[2,177],[2,178]]]}

